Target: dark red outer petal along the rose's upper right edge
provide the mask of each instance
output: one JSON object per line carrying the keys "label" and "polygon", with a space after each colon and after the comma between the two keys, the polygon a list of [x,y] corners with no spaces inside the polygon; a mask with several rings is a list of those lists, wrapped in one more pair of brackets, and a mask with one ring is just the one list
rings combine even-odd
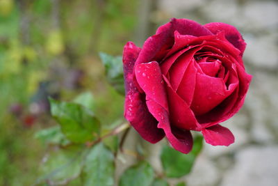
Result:
{"label": "dark red outer petal along the rose's upper right edge", "polygon": [[211,22],[205,24],[204,27],[206,27],[206,29],[210,30],[214,34],[220,31],[224,31],[227,40],[229,40],[231,44],[238,48],[240,50],[240,55],[243,56],[246,43],[236,27],[222,22]]}

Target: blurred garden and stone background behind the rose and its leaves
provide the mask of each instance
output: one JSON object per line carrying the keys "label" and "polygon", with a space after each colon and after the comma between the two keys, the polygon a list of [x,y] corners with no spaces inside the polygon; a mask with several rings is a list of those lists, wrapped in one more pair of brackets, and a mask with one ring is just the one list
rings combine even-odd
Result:
{"label": "blurred garden and stone background behind the rose and its leaves", "polygon": [[[253,75],[243,109],[224,123],[236,143],[204,144],[183,179],[189,186],[277,185],[275,0],[0,0],[0,185],[32,185],[38,178],[47,148],[34,134],[56,124],[48,96],[72,100],[90,91],[102,122],[122,118],[124,98],[106,82],[99,52],[122,55],[129,40],[141,47],[171,17],[236,26],[247,42],[244,61]],[[156,152],[152,164],[161,169]]]}

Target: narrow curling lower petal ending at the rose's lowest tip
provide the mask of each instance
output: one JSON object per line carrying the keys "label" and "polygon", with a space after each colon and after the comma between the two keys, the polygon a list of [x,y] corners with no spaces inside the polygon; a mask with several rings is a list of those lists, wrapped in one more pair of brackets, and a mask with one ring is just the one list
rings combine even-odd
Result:
{"label": "narrow curling lower petal ending at the rose's lowest tip", "polygon": [[153,100],[147,101],[147,107],[158,121],[158,127],[164,130],[173,148],[181,153],[189,153],[193,146],[193,138],[190,131],[176,129],[171,126],[167,111]]}

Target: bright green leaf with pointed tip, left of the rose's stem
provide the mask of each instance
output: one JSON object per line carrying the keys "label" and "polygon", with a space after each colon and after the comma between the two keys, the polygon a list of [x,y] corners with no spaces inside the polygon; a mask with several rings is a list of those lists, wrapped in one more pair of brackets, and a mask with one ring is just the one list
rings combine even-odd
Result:
{"label": "bright green leaf with pointed tip, left of the rose's stem", "polygon": [[100,124],[92,111],[74,102],[49,100],[51,114],[67,139],[74,143],[84,143],[99,137]]}

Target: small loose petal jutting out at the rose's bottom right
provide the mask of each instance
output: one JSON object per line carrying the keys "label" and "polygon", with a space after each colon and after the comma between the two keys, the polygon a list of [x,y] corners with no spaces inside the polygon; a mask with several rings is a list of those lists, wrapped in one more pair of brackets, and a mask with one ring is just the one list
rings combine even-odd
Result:
{"label": "small loose petal jutting out at the rose's bottom right", "polygon": [[213,146],[229,146],[234,143],[234,135],[226,127],[214,125],[202,130],[206,143]]}

